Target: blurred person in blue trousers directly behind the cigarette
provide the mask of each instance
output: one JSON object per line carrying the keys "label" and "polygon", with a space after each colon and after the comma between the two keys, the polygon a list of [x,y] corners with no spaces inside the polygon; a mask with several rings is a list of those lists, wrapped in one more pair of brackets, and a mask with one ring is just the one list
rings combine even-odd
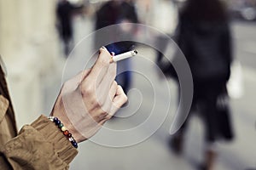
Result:
{"label": "blurred person in blue trousers directly behind the cigarette", "polygon": [[[96,12],[96,30],[105,26],[111,26],[115,24],[125,23],[138,23],[137,11],[132,0],[112,0],[104,3],[101,8]],[[119,28],[119,34],[111,32],[112,35],[108,35],[109,40],[113,41],[112,44],[106,45],[108,51],[115,54],[121,54],[131,50],[134,47],[134,42],[119,41],[119,39],[125,39],[125,37],[131,37],[136,32],[136,26],[116,26]],[[121,37],[119,37],[121,36]],[[102,38],[96,34],[96,48],[102,44]],[[101,44],[101,45],[99,45]],[[118,63],[118,77],[117,82],[124,88],[125,94],[127,94],[131,86],[131,59],[125,59]]]}

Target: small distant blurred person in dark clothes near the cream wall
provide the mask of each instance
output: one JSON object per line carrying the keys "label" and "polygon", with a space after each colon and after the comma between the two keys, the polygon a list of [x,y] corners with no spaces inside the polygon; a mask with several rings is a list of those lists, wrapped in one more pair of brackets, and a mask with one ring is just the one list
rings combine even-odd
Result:
{"label": "small distant blurred person in dark clothes near the cream wall", "polygon": [[60,0],[57,4],[56,13],[58,18],[57,28],[64,43],[64,53],[66,56],[70,52],[73,42],[72,16],[74,11],[78,11],[83,6],[75,7],[67,0]]}

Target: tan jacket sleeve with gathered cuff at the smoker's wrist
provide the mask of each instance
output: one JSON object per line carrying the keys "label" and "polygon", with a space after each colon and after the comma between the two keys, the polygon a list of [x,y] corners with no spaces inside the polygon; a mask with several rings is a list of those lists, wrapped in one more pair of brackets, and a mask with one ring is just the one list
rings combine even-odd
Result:
{"label": "tan jacket sleeve with gathered cuff at the smoker's wrist", "polygon": [[0,169],[68,169],[78,154],[55,123],[40,116],[31,125],[22,127],[18,136],[0,149],[3,162]]}

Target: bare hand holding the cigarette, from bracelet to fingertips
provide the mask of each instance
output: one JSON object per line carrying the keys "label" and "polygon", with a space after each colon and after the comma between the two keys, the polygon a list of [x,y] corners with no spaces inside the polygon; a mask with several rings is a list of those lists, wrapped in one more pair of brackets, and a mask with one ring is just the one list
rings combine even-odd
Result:
{"label": "bare hand holding the cigarette, from bracelet to fingertips", "polygon": [[93,136],[125,104],[127,97],[114,81],[116,63],[100,49],[95,65],[65,82],[51,116],[58,117],[77,142]]}

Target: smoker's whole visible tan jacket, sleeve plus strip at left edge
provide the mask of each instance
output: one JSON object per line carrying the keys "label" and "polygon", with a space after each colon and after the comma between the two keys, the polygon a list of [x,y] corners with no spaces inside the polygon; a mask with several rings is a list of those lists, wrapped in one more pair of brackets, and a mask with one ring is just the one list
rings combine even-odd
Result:
{"label": "smoker's whole visible tan jacket, sleeve plus strip at left edge", "polygon": [[17,132],[5,75],[0,65],[0,169],[68,169],[78,154],[46,116]]}

